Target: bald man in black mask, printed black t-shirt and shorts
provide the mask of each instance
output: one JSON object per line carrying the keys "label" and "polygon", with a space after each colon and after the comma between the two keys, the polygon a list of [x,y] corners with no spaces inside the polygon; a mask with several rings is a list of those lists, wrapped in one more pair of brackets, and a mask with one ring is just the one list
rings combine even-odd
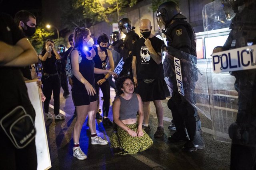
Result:
{"label": "bald man in black mask, printed black t-shirt and shorts", "polygon": [[162,64],[161,47],[164,42],[152,33],[151,22],[148,19],[140,21],[140,33],[143,37],[135,41],[132,48],[132,73],[135,92],[140,94],[143,104],[144,121],[142,128],[148,132],[150,114],[150,102],[156,107],[158,128],[154,137],[162,137],[164,134],[164,109],[161,100],[170,96],[168,87],[164,81],[164,68]]}

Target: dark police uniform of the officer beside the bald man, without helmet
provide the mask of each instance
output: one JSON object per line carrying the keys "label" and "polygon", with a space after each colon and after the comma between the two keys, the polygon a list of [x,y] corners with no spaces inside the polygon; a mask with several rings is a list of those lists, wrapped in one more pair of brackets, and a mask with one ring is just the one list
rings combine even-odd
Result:
{"label": "dark police uniform of the officer beside the bald man, without helmet", "polygon": [[[168,25],[166,34],[168,35],[168,46],[193,55],[194,58],[190,58],[192,60],[190,62],[196,64],[196,35],[192,26],[184,20],[176,20],[174,23]],[[182,56],[178,57],[182,58]],[[170,63],[174,66],[173,60]],[[194,88],[198,75],[195,70],[195,68],[191,68],[191,65],[183,66],[182,68],[182,77],[186,77],[187,81],[190,81],[190,83],[184,83],[183,85],[184,90],[192,96],[190,98],[194,99],[190,101],[192,104],[196,103]],[[190,141],[193,141],[194,145],[200,145],[200,149],[203,149],[204,142],[202,139],[201,121],[197,110],[178,93],[174,69],[169,71],[172,72],[169,81],[173,84],[173,92],[172,98],[168,101],[168,107],[172,110],[176,133],[184,137],[186,135],[184,128],[186,127]],[[184,147],[192,148],[193,146],[186,146],[185,144]]]}

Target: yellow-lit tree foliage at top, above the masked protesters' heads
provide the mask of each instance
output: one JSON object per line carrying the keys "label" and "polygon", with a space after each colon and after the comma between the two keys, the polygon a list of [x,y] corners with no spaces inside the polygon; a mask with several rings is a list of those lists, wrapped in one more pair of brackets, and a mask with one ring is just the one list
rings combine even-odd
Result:
{"label": "yellow-lit tree foliage at top, above the masked protesters' heads", "polygon": [[70,29],[89,27],[99,21],[112,23],[118,21],[117,10],[122,16],[124,8],[136,3],[137,0],[63,0],[62,21]]}

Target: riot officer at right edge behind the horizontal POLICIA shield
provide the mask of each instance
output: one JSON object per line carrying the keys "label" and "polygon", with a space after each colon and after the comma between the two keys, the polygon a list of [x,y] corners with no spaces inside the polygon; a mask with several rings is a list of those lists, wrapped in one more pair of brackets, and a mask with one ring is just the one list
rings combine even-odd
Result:
{"label": "riot officer at right edge behind the horizontal POLICIA shield", "polygon": [[[215,47],[214,53],[256,44],[255,0],[222,0],[225,14],[228,14],[227,2],[236,15],[226,43]],[[256,169],[256,69],[233,71],[231,75],[236,78],[238,113],[236,122],[229,127],[230,169]]]}

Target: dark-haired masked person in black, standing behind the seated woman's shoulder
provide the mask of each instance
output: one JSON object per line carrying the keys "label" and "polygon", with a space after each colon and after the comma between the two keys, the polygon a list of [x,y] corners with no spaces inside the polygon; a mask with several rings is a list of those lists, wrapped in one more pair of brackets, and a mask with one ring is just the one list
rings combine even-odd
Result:
{"label": "dark-haired masked person in black, standing behind the seated woman's shoulder", "polygon": [[[107,63],[110,64],[110,71],[114,70],[114,60],[112,57],[112,52],[107,49],[109,39],[108,36],[104,33],[103,35],[100,35],[97,39],[97,43],[99,47],[95,48],[96,55],[94,57],[94,63],[96,68],[104,69],[106,70]],[[109,62],[108,62],[109,61]],[[95,74],[95,88],[96,92],[98,94],[98,99],[99,99],[99,92],[100,90],[102,91],[103,94],[103,105],[102,105],[102,110],[103,110],[103,125],[110,125],[112,126],[112,122],[110,119],[108,119],[108,111],[109,111],[109,106],[110,106],[110,84],[108,81],[108,78],[110,77],[110,74]],[[97,113],[96,113],[96,119],[101,119],[101,115],[99,113],[99,107],[100,107],[100,102],[98,100],[97,104]]]}

